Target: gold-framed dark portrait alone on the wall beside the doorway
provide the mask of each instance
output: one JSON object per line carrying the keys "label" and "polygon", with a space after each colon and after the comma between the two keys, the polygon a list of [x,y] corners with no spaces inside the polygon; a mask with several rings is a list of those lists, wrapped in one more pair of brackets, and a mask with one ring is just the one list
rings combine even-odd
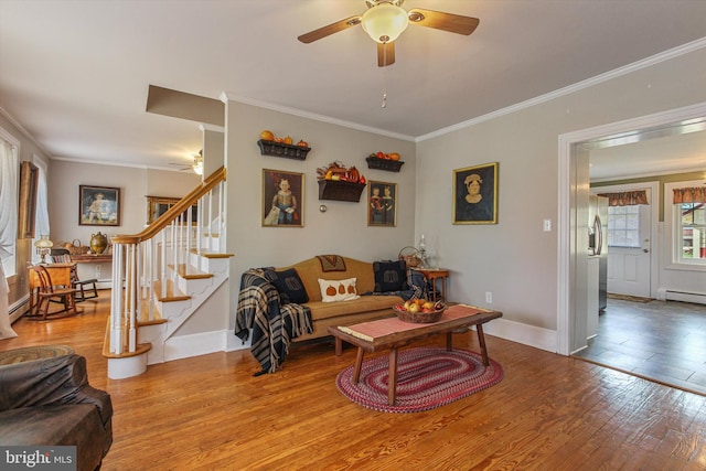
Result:
{"label": "gold-framed dark portrait alone on the wall beside the doorway", "polygon": [[498,162],[453,170],[453,224],[498,224]]}

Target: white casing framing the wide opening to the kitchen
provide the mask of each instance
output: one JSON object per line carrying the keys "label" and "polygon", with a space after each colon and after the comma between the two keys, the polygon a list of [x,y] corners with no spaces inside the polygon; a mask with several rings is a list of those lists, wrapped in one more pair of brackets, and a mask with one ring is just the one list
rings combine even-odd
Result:
{"label": "white casing framing the wide opening to the kitchen", "polygon": [[[584,221],[589,193],[589,147],[619,135],[650,139],[668,132],[689,132],[695,129],[685,121],[704,116],[706,104],[699,104],[559,136],[558,353],[569,355],[587,346],[588,235]],[[700,124],[703,129],[703,121]]]}

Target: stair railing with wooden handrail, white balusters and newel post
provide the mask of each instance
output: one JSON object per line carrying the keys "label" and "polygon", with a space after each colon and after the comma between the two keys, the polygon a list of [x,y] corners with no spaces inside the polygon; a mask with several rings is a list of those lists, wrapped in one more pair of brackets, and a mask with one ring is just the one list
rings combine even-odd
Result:
{"label": "stair railing with wooden handrail, white balusters and newel post", "polygon": [[[197,269],[191,264],[193,254],[225,251],[225,180],[222,167],[139,234],[111,237],[113,296],[106,356],[140,350],[138,322],[157,321],[156,300],[180,296],[180,271]],[[196,221],[191,211],[194,204]]]}

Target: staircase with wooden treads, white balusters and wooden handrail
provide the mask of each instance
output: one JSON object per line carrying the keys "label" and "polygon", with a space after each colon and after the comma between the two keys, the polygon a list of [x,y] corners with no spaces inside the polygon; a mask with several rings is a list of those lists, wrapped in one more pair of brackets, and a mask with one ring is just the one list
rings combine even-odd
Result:
{"label": "staircase with wooden treads, white balusters and wooden handrail", "polygon": [[170,339],[227,281],[225,180],[221,168],[141,233],[111,238],[108,377],[168,361]]}

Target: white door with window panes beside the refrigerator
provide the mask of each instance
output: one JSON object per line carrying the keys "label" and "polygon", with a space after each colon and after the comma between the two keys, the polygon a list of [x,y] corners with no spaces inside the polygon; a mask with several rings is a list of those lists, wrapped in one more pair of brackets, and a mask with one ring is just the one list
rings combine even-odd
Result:
{"label": "white door with window panes beside the refrigerator", "polygon": [[[650,189],[648,200],[652,201]],[[627,237],[613,237],[612,244],[608,247],[608,292],[617,295],[638,296],[642,298],[651,297],[651,207],[650,205],[612,207],[611,212],[618,212],[614,217],[622,220],[617,224],[617,232],[625,225]],[[608,215],[609,226],[611,215]],[[611,240],[609,234],[609,244]]]}

